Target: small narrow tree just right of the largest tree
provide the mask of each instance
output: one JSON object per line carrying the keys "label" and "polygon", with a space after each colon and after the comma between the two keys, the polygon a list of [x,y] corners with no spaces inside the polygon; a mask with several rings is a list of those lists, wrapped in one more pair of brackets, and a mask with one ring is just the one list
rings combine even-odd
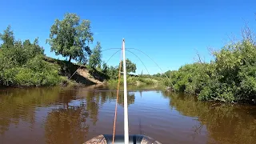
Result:
{"label": "small narrow tree just right of the largest tree", "polygon": [[102,46],[100,42],[97,42],[97,45],[94,47],[92,54],[89,59],[89,66],[92,68],[96,68],[96,66],[100,66],[102,63]]}

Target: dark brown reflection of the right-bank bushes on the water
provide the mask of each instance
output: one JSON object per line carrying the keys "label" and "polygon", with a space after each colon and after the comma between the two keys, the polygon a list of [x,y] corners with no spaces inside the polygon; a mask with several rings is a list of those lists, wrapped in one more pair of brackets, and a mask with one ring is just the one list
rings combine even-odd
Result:
{"label": "dark brown reflection of the right-bank bushes on the water", "polygon": [[[206,126],[209,137],[219,143],[255,143],[256,107],[196,102],[194,97],[164,94],[170,107],[181,114],[197,118],[199,128]],[[195,130],[198,130],[196,128]],[[200,130],[200,129],[199,129]]]}

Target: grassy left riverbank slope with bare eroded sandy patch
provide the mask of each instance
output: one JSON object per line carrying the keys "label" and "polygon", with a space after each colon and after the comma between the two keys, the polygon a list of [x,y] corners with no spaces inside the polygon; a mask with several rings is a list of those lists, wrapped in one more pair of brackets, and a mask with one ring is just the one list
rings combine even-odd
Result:
{"label": "grassy left riverbank slope with bare eroded sandy patch", "polygon": [[103,84],[107,78],[101,71],[43,55],[28,60],[22,66],[7,68],[4,62],[0,63],[3,67],[2,70],[0,68],[0,86],[5,87],[89,86]]}

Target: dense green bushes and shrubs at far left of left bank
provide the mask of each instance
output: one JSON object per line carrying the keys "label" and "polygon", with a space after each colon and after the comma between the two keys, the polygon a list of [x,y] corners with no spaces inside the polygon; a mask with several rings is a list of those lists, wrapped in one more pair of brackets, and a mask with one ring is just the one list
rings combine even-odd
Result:
{"label": "dense green bushes and shrubs at far left of left bank", "polygon": [[[11,37],[6,36],[8,34]],[[43,60],[43,49],[38,45],[38,38],[33,43],[30,40],[15,41],[10,27],[1,36],[0,85],[53,86],[60,82],[59,67]]]}

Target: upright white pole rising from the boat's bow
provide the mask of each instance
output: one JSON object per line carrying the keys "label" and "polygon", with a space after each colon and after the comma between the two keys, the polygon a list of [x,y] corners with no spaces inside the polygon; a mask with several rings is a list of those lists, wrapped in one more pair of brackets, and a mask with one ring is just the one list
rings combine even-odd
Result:
{"label": "upright white pole rising from the boat's bow", "polygon": [[128,102],[127,102],[127,87],[126,87],[126,48],[125,39],[122,38],[122,63],[123,63],[123,87],[124,87],[124,130],[125,144],[129,144],[129,127],[128,127]]}

